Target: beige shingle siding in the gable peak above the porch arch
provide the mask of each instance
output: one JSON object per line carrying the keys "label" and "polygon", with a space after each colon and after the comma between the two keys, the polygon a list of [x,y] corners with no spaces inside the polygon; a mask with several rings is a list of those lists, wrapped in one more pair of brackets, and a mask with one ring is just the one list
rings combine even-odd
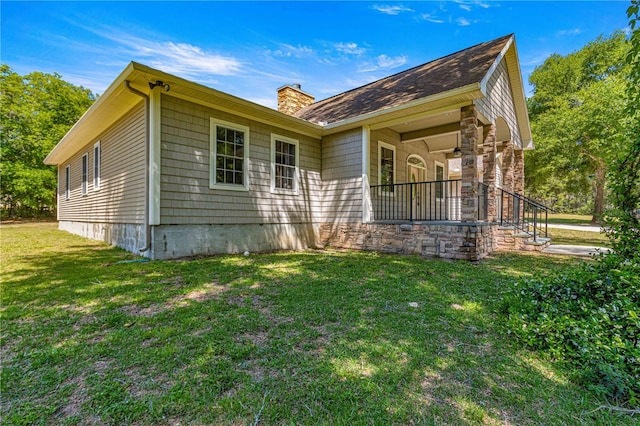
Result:
{"label": "beige shingle siding in the gable peak above the porch arch", "polygon": [[516,146],[522,147],[520,128],[516,118],[513,91],[509,83],[509,72],[503,59],[487,83],[487,96],[475,101],[478,111],[495,123],[502,117],[509,126],[511,138]]}

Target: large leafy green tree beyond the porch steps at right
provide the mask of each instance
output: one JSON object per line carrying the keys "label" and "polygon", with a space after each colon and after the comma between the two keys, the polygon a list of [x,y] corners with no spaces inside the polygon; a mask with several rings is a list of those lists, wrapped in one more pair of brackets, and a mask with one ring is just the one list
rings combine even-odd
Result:
{"label": "large leafy green tree beyond the porch steps at right", "polygon": [[628,126],[627,51],[625,35],[616,32],[569,55],[552,55],[530,77],[537,149],[527,153],[527,188],[556,208],[567,207],[568,199],[591,204],[594,222],[604,211],[607,171]]}

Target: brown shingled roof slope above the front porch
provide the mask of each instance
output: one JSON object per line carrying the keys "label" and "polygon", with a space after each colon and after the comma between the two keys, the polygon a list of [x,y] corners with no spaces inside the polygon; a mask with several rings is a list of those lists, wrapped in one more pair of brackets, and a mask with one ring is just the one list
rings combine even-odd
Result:
{"label": "brown shingled roof slope above the front porch", "polygon": [[374,81],[297,111],[313,123],[336,123],[407,102],[480,84],[513,34],[478,44],[440,59]]}

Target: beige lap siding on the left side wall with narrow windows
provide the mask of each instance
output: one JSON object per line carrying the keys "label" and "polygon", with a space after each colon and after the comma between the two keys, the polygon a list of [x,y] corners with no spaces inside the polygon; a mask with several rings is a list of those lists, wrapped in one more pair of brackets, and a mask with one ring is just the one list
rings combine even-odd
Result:
{"label": "beige lap siding on the left side wall with narrow windows", "polygon": [[[144,223],[145,120],[141,102],[58,166],[58,220]],[[93,147],[100,141],[100,189],[93,188]],[[87,194],[82,195],[82,156],[88,154]],[[65,168],[71,168],[71,196],[65,199]]]}

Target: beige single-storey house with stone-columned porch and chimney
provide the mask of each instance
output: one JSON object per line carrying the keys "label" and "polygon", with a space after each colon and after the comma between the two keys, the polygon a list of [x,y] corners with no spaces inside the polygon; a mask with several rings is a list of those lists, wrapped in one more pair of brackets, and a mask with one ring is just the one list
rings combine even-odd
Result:
{"label": "beige single-storey house with stone-columned porch and chimney", "polygon": [[45,163],[60,229],[151,259],[477,260],[514,244],[505,218],[525,222],[532,147],[508,35],[319,102],[286,85],[278,111],[132,62]]}

